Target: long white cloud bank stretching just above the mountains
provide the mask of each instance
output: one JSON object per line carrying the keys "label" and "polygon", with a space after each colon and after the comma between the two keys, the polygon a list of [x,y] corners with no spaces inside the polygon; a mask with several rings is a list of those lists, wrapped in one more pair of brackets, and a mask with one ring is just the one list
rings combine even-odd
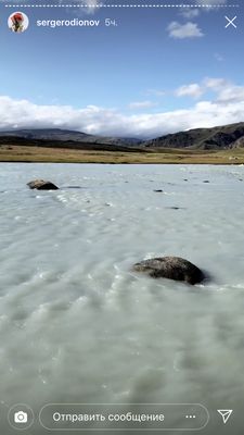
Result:
{"label": "long white cloud bank stretching just above the mountains", "polygon": [[244,86],[223,78],[206,78],[200,86],[216,94],[183,110],[124,114],[95,105],[41,105],[28,100],[0,97],[0,129],[67,128],[79,132],[124,136],[156,137],[167,133],[210,127],[244,121]]}

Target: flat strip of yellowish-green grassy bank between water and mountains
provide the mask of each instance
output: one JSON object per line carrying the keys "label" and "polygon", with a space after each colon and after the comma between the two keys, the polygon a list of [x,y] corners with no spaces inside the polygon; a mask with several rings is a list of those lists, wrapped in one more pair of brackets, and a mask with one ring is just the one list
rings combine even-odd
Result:
{"label": "flat strip of yellowish-green grassy bank between water and mountains", "polygon": [[110,152],[1,146],[0,162],[244,164],[244,149],[221,151],[160,149],[147,152]]}

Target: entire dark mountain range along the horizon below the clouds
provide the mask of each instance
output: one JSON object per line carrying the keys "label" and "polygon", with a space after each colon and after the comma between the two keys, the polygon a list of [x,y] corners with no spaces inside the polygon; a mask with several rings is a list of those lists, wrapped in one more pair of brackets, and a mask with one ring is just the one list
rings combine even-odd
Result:
{"label": "entire dark mountain range along the horizon below the clouds", "polygon": [[0,132],[0,145],[75,148],[108,151],[153,151],[162,148],[219,150],[244,147],[244,122],[194,128],[150,140],[88,135],[61,128]]}

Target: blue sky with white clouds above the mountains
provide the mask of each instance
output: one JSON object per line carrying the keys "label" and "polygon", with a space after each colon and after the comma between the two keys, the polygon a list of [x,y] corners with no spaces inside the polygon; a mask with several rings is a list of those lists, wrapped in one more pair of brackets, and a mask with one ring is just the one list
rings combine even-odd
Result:
{"label": "blue sky with white clouds above the mountains", "polygon": [[[1,0],[1,130],[54,127],[152,138],[244,121],[244,5],[227,0],[195,0],[192,8],[187,1],[150,8],[162,0],[129,2],[144,8],[125,8],[125,0],[106,0],[103,8],[95,8],[97,0],[66,3]],[[29,18],[22,34],[8,27],[16,11]],[[236,28],[226,16],[236,16]],[[54,27],[57,20],[90,25]],[[91,25],[95,21],[99,25]]]}

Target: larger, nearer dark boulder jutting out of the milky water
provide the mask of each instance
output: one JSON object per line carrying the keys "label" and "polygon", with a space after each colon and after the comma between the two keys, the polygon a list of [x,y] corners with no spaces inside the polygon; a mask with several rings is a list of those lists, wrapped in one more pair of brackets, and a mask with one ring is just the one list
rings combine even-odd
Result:
{"label": "larger, nearer dark boulder jutting out of the milky water", "polygon": [[184,281],[189,284],[201,283],[204,273],[190,261],[180,257],[159,257],[141,261],[133,265],[133,271],[144,272],[153,278]]}

